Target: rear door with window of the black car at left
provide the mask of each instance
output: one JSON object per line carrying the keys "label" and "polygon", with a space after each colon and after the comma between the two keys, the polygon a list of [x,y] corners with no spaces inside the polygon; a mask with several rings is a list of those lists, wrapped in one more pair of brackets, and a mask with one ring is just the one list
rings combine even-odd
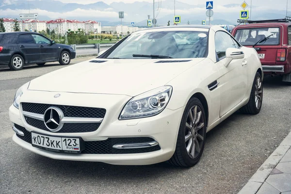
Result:
{"label": "rear door with window of the black car at left", "polygon": [[40,49],[35,44],[31,34],[20,34],[17,45],[20,52],[24,54],[26,63],[39,61]]}

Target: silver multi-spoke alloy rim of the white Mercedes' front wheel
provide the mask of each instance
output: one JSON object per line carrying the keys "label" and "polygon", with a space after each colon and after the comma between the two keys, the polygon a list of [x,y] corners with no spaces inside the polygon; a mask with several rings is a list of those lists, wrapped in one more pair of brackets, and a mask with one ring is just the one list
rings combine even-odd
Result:
{"label": "silver multi-spoke alloy rim of the white Mercedes' front wheel", "polygon": [[193,106],[188,113],[185,129],[185,144],[190,158],[200,154],[205,139],[204,116],[199,106]]}

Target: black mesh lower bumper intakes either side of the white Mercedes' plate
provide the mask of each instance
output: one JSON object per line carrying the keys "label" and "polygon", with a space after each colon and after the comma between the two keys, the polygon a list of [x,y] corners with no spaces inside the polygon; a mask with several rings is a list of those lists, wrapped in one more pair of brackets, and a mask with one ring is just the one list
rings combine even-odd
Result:
{"label": "black mesh lower bumper intakes either side of the white Mercedes' plate", "polygon": [[[27,131],[24,127],[15,124],[15,127],[24,133],[24,136],[17,135],[20,139],[27,143],[32,143],[32,134]],[[154,141],[150,137],[126,137],[126,138],[108,138],[104,141],[90,141],[84,142],[85,150],[82,150],[81,154],[136,154],[136,153],[146,153],[152,151],[158,151],[161,149],[159,145],[144,148],[134,148],[134,149],[116,149],[112,146],[115,144],[124,143],[145,143]]]}

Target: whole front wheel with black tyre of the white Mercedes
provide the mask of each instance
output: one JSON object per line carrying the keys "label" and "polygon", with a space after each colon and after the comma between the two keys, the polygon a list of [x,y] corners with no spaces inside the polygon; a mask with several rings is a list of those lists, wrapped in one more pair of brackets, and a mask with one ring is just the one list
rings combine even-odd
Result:
{"label": "whole front wheel with black tyre of the white Mercedes", "polygon": [[192,97],[182,116],[176,151],[169,163],[192,167],[201,158],[206,137],[206,116],[200,100]]}

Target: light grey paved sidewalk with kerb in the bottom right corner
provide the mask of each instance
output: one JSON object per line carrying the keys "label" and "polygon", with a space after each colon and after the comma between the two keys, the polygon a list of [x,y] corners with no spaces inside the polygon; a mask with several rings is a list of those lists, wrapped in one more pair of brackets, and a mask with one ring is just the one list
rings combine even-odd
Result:
{"label": "light grey paved sidewalk with kerb in the bottom right corner", "polygon": [[239,194],[291,194],[291,132]]}

